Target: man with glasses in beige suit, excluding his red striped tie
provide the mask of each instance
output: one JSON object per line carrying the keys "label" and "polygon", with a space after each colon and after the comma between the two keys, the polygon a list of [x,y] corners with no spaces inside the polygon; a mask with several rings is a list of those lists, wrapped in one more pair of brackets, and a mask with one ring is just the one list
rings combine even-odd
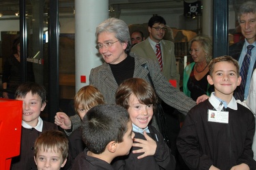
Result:
{"label": "man with glasses in beige suit, excluding his red striped tie", "polygon": [[150,36],[139,44],[132,47],[132,52],[145,58],[152,58],[158,61],[156,56],[156,44],[160,44],[162,56],[162,74],[167,80],[176,80],[177,88],[179,88],[180,74],[177,72],[174,43],[162,39],[165,36],[166,22],[162,16],[152,16],[147,27]]}

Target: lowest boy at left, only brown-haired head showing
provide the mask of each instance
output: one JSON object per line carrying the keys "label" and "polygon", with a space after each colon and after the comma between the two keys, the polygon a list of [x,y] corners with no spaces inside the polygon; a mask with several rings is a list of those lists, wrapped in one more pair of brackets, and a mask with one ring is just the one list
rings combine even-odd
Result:
{"label": "lowest boy at left, only brown-haired head showing", "polygon": [[68,139],[61,131],[46,131],[35,141],[35,164],[38,170],[59,170],[67,162]]}

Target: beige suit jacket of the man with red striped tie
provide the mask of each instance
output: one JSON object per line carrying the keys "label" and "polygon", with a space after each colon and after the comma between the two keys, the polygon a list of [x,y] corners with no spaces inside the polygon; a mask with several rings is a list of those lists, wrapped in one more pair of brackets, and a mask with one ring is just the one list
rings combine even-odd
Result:
{"label": "beige suit jacket of the man with red striped tie", "polygon": [[[147,37],[147,39],[132,47],[132,52],[145,58],[152,58],[154,61],[158,62],[158,59],[156,58],[156,53],[150,45],[149,38],[150,37]],[[180,74],[178,73],[176,67],[174,43],[172,41],[162,39],[161,44],[163,61],[162,74],[165,75],[165,78],[167,78],[167,80],[176,80],[177,88],[179,88]]]}

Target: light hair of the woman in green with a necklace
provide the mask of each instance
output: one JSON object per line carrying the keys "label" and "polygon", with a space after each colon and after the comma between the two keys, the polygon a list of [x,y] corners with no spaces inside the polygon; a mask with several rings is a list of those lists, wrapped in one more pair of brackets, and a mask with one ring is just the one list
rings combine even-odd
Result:
{"label": "light hair of the woman in green with a necklace", "polygon": [[212,40],[208,35],[197,35],[189,42],[189,48],[191,47],[192,43],[194,41],[197,41],[201,44],[201,47],[203,48],[203,51],[207,54],[206,57],[206,63],[210,63],[212,60]]}

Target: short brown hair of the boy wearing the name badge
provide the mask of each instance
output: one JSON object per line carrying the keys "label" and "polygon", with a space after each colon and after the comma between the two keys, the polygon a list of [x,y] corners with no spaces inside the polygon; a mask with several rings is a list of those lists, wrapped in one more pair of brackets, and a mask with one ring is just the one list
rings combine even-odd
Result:
{"label": "short brown hair of the boy wearing the name badge", "polygon": [[212,76],[212,73],[214,71],[214,66],[218,62],[233,63],[233,65],[236,67],[236,73],[238,73],[238,77],[240,76],[238,61],[236,61],[231,56],[219,56],[219,57],[213,58],[212,61],[209,64],[209,73],[210,73],[211,76]]}

